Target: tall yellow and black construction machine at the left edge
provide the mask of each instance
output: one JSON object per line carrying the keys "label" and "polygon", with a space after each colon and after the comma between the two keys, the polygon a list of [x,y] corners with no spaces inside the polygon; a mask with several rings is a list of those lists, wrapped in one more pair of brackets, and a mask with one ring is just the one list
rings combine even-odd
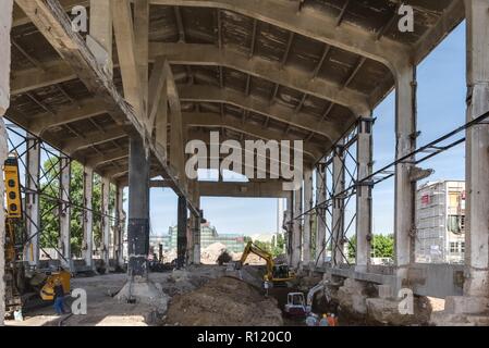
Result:
{"label": "tall yellow and black construction machine at the left edge", "polygon": [[5,314],[22,311],[28,300],[54,299],[56,279],[70,291],[70,272],[59,270],[28,270],[23,260],[28,241],[21,198],[19,161],[10,154],[3,164],[5,183]]}

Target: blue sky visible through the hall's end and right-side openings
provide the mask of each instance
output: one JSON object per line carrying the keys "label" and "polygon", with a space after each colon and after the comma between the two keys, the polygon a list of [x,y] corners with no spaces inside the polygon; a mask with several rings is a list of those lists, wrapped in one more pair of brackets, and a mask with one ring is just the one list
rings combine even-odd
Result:
{"label": "blue sky visible through the hall's end and right-side openings", "polygon": [[[418,146],[425,145],[465,123],[465,24],[460,25],[419,66]],[[394,159],[395,95],[392,92],[375,110],[375,169]],[[462,136],[462,134],[461,134]],[[423,163],[436,172],[429,181],[464,179],[464,145]],[[421,183],[423,184],[423,183]],[[392,233],[393,179],[374,189],[374,228]],[[220,233],[272,233],[277,229],[276,199],[203,198],[206,217]],[[169,189],[151,190],[151,229],[168,231],[176,223],[176,198]]]}

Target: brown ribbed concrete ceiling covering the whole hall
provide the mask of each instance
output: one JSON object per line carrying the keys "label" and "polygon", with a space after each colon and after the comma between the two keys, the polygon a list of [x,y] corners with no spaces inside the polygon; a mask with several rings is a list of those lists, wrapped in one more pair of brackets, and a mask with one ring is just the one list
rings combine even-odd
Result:
{"label": "brown ribbed concrete ceiling covering the whole hall", "polygon": [[[68,10],[88,1],[60,2]],[[151,0],[150,60],[168,57],[182,111],[193,120],[219,115],[222,121],[212,126],[223,138],[260,138],[268,130],[270,138],[304,139],[314,162],[394,88],[388,60],[419,63],[464,18],[463,1],[405,2],[415,9],[414,33],[398,29],[395,0],[264,0],[234,7],[230,0]],[[291,13],[297,20],[286,22]],[[362,38],[371,47],[354,46]],[[124,173],[124,129],[19,8],[12,42],[8,117],[96,164],[99,173]],[[384,57],[377,53],[387,48]],[[114,84],[122,95],[117,62],[114,53]],[[188,136],[204,128],[191,123]]]}

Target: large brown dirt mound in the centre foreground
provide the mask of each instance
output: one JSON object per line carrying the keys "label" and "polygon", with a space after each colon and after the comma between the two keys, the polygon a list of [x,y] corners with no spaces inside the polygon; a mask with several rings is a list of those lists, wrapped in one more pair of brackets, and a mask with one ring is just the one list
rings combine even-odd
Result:
{"label": "large brown dirt mound in the centre foreground", "polygon": [[182,326],[280,326],[277,300],[240,279],[221,277],[201,288],[175,296],[167,324]]}

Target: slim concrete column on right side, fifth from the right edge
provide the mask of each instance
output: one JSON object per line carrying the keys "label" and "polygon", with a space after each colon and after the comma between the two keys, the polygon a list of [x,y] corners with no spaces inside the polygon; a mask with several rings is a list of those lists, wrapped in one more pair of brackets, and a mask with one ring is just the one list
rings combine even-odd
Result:
{"label": "slim concrete column on right side, fifth from the right edge", "polygon": [[[316,204],[326,201],[326,167],[319,164],[316,169]],[[321,266],[326,259],[326,208],[317,209],[316,253],[315,262]]]}

